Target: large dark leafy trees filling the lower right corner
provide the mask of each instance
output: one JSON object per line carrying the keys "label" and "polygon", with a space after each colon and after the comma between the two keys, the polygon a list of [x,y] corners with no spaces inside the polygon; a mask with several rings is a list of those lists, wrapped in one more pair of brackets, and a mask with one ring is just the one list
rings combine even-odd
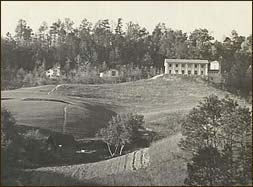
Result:
{"label": "large dark leafy trees filling the lower right corner", "polygon": [[231,98],[206,97],[186,117],[180,141],[192,153],[188,185],[252,182],[252,112]]}

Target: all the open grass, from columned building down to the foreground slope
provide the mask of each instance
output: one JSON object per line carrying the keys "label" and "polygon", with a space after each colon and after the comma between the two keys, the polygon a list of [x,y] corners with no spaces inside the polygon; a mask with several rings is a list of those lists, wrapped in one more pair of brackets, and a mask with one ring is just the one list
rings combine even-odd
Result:
{"label": "all the open grass, from columned building down to the foreground slope", "polygon": [[[32,174],[28,172],[28,178],[33,180],[29,184],[33,185],[67,185],[70,181],[74,181],[73,185],[182,185],[188,156],[177,145],[182,136],[181,120],[203,97],[231,96],[201,80],[180,77],[60,85],[50,92],[54,88],[50,85],[2,91],[2,106],[14,114],[18,125],[66,132],[77,138],[94,137],[115,113],[136,112],[144,115],[145,126],[157,132],[159,138],[146,150],[147,167],[133,169],[134,164],[140,164],[133,163],[136,155],[143,157],[143,150],[137,150],[138,153],[97,163],[38,168]],[[238,102],[250,106],[242,100]],[[128,167],[132,169],[121,170],[123,162],[132,163]]]}

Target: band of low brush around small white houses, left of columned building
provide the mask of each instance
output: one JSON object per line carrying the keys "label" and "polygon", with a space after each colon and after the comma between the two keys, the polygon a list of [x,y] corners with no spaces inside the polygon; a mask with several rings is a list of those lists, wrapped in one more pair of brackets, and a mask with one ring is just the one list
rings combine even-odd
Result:
{"label": "band of low brush around small white houses, left of columned building", "polygon": [[1,89],[16,89],[20,87],[41,86],[48,84],[103,84],[103,83],[120,83],[147,79],[158,74],[162,74],[163,70],[155,67],[135,67],[133,65],[118,66],[119,77],[102,79],[99,77],[99,68],[90,66],[88,70],[69,70],[60,77],[50,79],[46,77],[42,68],[33,71],[25,71],[22,68],[13,72],[10,79],[1,79]]}

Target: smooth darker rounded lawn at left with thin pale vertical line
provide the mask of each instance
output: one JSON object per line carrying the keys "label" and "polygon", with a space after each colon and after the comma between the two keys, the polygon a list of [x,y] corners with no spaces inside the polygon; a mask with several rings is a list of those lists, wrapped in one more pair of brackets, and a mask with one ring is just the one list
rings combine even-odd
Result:
{"label": "smooth darker rounded lawn at left with thin pale vertical line", "polygon": [[2,107],[14,114],[17,125],[68,133],[76,138],[94,137],[115,114],[103,104],[48,94],[54,87],[2,91]]}

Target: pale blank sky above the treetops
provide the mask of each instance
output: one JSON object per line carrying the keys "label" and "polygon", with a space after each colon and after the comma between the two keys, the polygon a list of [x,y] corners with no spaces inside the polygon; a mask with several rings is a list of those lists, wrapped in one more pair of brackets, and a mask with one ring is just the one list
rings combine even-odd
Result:
{"label": "pale blank sky above the treetops", "polygon": [[207,28],[221,40],[234,29],[240,35],[252,33],[252,2],[173,2],[173,1],[1,1],[1,35],[14,33],[19,19],[25,19],[35,31],[43,21],[49,25],[58,18],[70,18],[79,26],[87,18],[93,24],[99,19],[133,21],[151,33],[159,22],[174,30],[191,32]]}

